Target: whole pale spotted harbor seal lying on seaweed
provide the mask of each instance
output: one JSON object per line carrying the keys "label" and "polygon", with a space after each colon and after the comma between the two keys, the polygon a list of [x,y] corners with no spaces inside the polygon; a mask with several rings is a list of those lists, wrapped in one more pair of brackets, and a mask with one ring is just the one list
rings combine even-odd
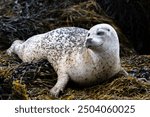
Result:
{"label": "whole pale spotted harbor seal lying on seaweed", "polygon": [[69,80],[91,86],[119,73],[127,75],[120,64],[118,35],[109,24],[97,24],[90,30],[58,28],[25,42],[16,40],[7,53],[17,54],[23,62],[47,59],[58,75],[57,83],[50,90],[55,97]]}

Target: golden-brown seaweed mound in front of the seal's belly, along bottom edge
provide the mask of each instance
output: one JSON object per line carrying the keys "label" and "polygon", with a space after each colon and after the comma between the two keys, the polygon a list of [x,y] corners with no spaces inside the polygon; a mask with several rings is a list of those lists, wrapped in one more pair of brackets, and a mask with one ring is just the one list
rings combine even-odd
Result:
{"label": "golden-brown seaweed mound in front of the seal's belly, along bottom edge", "polygon": [[150,99],[150,84],[133,77],[120,77],[111,82],[84,89],[68,89],[61,99]]}

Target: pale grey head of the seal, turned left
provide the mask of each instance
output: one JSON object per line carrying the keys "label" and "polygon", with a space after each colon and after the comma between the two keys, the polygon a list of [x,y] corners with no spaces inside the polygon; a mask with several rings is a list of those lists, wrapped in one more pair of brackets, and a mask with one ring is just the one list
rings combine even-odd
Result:
{"label": "pale grey head of the seal, turned left", "polygon": [[93,51],[113,50],[119,53],[119,41],[115,29],[109,24],[93,26],[87,34],[85,46]]}

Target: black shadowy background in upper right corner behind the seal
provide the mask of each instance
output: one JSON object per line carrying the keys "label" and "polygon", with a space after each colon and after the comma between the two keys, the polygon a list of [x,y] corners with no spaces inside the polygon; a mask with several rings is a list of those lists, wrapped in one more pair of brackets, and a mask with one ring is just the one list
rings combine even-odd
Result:
{"label": "black shadowy background in upper right corner behind the seal", "polygon": [[150,1],[97,0],[139,54],[150,54]]}

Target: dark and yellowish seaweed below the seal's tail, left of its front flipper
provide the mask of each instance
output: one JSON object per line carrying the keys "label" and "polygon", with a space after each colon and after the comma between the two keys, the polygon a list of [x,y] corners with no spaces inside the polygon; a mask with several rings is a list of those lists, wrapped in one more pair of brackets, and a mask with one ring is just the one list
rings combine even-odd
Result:
{"label": "dark and yellowish seaweed below the seal's tail, left of its front flipper", "polygon": [[46,60],[22,63],[18,57],[0,52],[0,99],[30,99],[35,94],[31,89],[51,89],[56,77]]}

